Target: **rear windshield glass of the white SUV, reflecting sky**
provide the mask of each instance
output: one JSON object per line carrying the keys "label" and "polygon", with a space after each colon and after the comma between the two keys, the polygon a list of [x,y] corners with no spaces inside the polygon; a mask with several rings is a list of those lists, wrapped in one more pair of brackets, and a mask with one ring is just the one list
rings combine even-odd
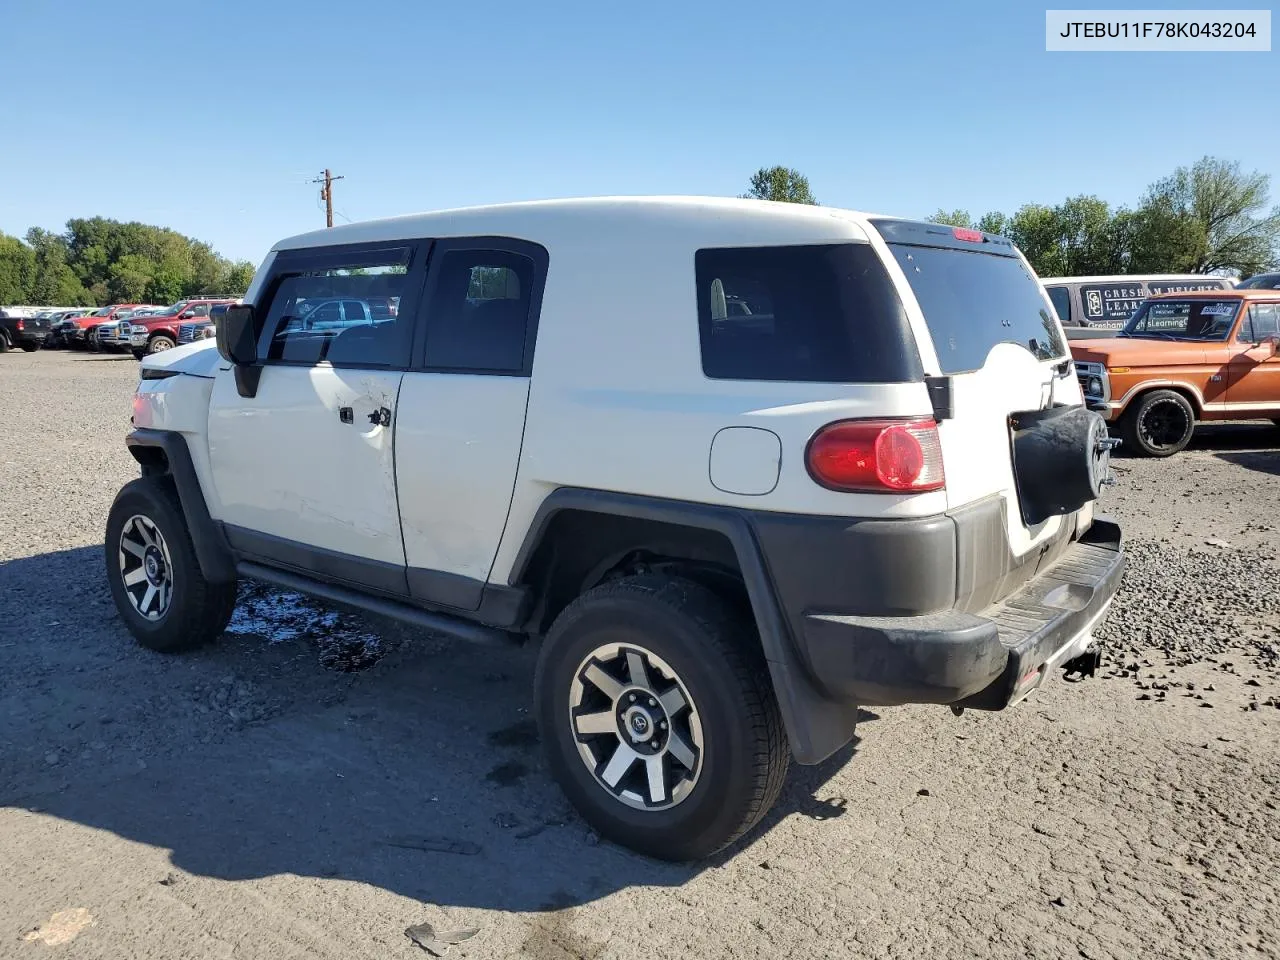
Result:
{"label": "rear windshield glass of the white SUV, reflecting sky", "polygon": [[1023,261],[959,247],[890,243],[915,293],[943,374],[980,370],[998,343],[1060,360],[1066,343],[1043,288]]}

